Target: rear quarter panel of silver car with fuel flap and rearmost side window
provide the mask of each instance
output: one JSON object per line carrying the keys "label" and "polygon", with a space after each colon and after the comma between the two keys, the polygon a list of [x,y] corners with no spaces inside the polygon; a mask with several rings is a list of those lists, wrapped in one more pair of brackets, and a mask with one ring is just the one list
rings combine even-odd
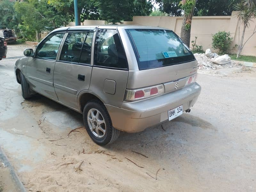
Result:
{"label": "rear quarter panel of silver car with fuel flap and rearmost side window", "polygon": [[121,107],[128,78],[123,44],[116,29],[98,29],[90,90],[108,105]]}

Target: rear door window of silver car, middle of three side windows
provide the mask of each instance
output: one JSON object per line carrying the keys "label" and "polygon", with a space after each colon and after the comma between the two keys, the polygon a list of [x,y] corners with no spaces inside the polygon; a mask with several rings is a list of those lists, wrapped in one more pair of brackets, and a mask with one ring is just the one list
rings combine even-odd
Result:
{"label": "rear door window of silver car, middle of three side windows", "polygon": [[90,64],[93,32],[69,33],[60,54],[60,60]]}

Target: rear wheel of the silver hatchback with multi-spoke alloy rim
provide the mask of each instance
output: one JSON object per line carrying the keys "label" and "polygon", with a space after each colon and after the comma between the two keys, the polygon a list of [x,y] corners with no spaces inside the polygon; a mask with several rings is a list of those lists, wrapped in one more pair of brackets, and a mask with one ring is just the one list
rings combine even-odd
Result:
{"label": "rear wheel of the silver hatchback with multi-spoke alloy rim", "polygon": [[108,145],[118,138],[120,131],[112,126],[108,111],[100,101],[86,103],[83,119],[87,133],[98,145]]}

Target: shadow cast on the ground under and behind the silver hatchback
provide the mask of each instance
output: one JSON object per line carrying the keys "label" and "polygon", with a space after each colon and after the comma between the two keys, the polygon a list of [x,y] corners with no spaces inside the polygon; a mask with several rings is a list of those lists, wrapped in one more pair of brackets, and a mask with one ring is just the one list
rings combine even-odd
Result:
{"label": "shadow cast on the ground under and behind the silver hatchback", "polygon": [[[69,132],[67,128],[76,129],[79,126],[84,126],[82,114],[42,95],[36,94],[27,100],[26,103],[28,107],[41,106],[45,111],[42,114],[42,118],[46,117],[47,121],[56,125],[62,131]],[[184,113],[182,116],[170,122],[165,121],[163,124],[149,127],[143,132],[121,132],[119,138],[114,143],[103,146],[103,148],[115,151],[118,154],[122,153],[121,151],[144,151],[148,156],[150,156],[150,151],[155,151],[159,156],[162,156],[163,152],[170,153],[175,148],[183,148],[182,150],[186,151],[186,148],[192,145],[195,140],[198,140],[204,134],[203,132],[207,130],[210,132],[216,131],[214,126],[209,122]],[[86,132],[85,134],[84,139],[90,140],[88,134]],[[92,140],[89,142],[97,146]],[[154,154],[151,155],[152,157],[154,156]]]}

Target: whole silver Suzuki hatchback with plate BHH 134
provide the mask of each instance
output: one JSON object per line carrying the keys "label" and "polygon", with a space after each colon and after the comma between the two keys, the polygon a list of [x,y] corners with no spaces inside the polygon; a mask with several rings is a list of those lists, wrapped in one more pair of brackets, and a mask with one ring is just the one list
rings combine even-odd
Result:
{"label": "whole silver Suzuki hatchback with plate BHH 134", "polygon": [[194,55],[166,28],[58,28],[24,55],[15,64],[22,96],[39,93],[83,114],[99,145],[189,112],[201,91]]}

